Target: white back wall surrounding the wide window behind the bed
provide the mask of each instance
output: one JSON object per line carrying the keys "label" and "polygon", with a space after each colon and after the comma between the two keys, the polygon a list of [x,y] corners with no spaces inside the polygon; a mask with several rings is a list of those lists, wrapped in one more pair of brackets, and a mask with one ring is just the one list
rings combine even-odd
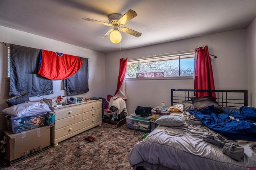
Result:
{"label": "white back wall surrounding the wide window behind the bed", "polygon": [[[205,35],[137,49],[122,50],[128,59],[192,50],[208,45],[209,53],[218,58],[212,62],[215,89],[247,90],[246,29]],[[106,95],[114,95],[119,72],[120,52],[106,54]],[[126,80],[126,107],[134,113],[137,106],[170,106],[171,89],[193,89],[193,79]]]}

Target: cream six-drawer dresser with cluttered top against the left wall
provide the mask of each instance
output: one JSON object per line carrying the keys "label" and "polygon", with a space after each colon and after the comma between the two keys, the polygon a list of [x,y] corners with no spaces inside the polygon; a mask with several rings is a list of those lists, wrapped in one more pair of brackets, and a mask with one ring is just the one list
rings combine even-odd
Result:
{"label": "cream six-drawer dresser with cluttered top against the left wall", "polygon": [[55,123],[51,127],[51,143],[60,141],[102,124],[102,99],[52,107]]}

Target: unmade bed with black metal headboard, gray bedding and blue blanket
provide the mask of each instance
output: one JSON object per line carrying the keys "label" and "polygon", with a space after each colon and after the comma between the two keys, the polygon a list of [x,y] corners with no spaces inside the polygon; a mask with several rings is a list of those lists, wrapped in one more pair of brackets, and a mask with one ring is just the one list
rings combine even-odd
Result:
{"label": "unmade bed with black metal headboard, gray bedding and blue blanket", "polygon": [[[216,101],[193,98],[198,92],[214,93]],[[130,166],[134,170],[256,169],[256,108],[247,102],[246,90],[172,89],[171,105],[178,112],[156,120],[156,129],[130,151]]]}

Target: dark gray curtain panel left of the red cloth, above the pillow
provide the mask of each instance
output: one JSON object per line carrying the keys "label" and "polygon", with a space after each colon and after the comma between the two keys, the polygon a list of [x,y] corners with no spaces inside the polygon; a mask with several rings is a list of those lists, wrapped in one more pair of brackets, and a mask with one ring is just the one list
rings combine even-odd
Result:
{"label": "dark gray curtain panel left of the red cloth, above the pillow", "polygon": [[10,92],[17,96],[30,92],[30,96],[53,94],[52,80],[38,76],[40,49],[10,44]]}

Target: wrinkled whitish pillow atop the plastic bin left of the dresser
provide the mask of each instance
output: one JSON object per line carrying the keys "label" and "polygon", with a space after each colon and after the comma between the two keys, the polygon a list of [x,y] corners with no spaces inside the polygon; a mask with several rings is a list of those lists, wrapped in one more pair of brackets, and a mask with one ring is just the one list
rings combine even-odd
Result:
{"label": "wrinkled whitish pillow atop the plastic bin left of the dresser", "polygon": [[2,113],[13,117],[26,117],[38,115],[51,111],[50,107],[45,102],[28,102],[21,103],[2,110]]}

